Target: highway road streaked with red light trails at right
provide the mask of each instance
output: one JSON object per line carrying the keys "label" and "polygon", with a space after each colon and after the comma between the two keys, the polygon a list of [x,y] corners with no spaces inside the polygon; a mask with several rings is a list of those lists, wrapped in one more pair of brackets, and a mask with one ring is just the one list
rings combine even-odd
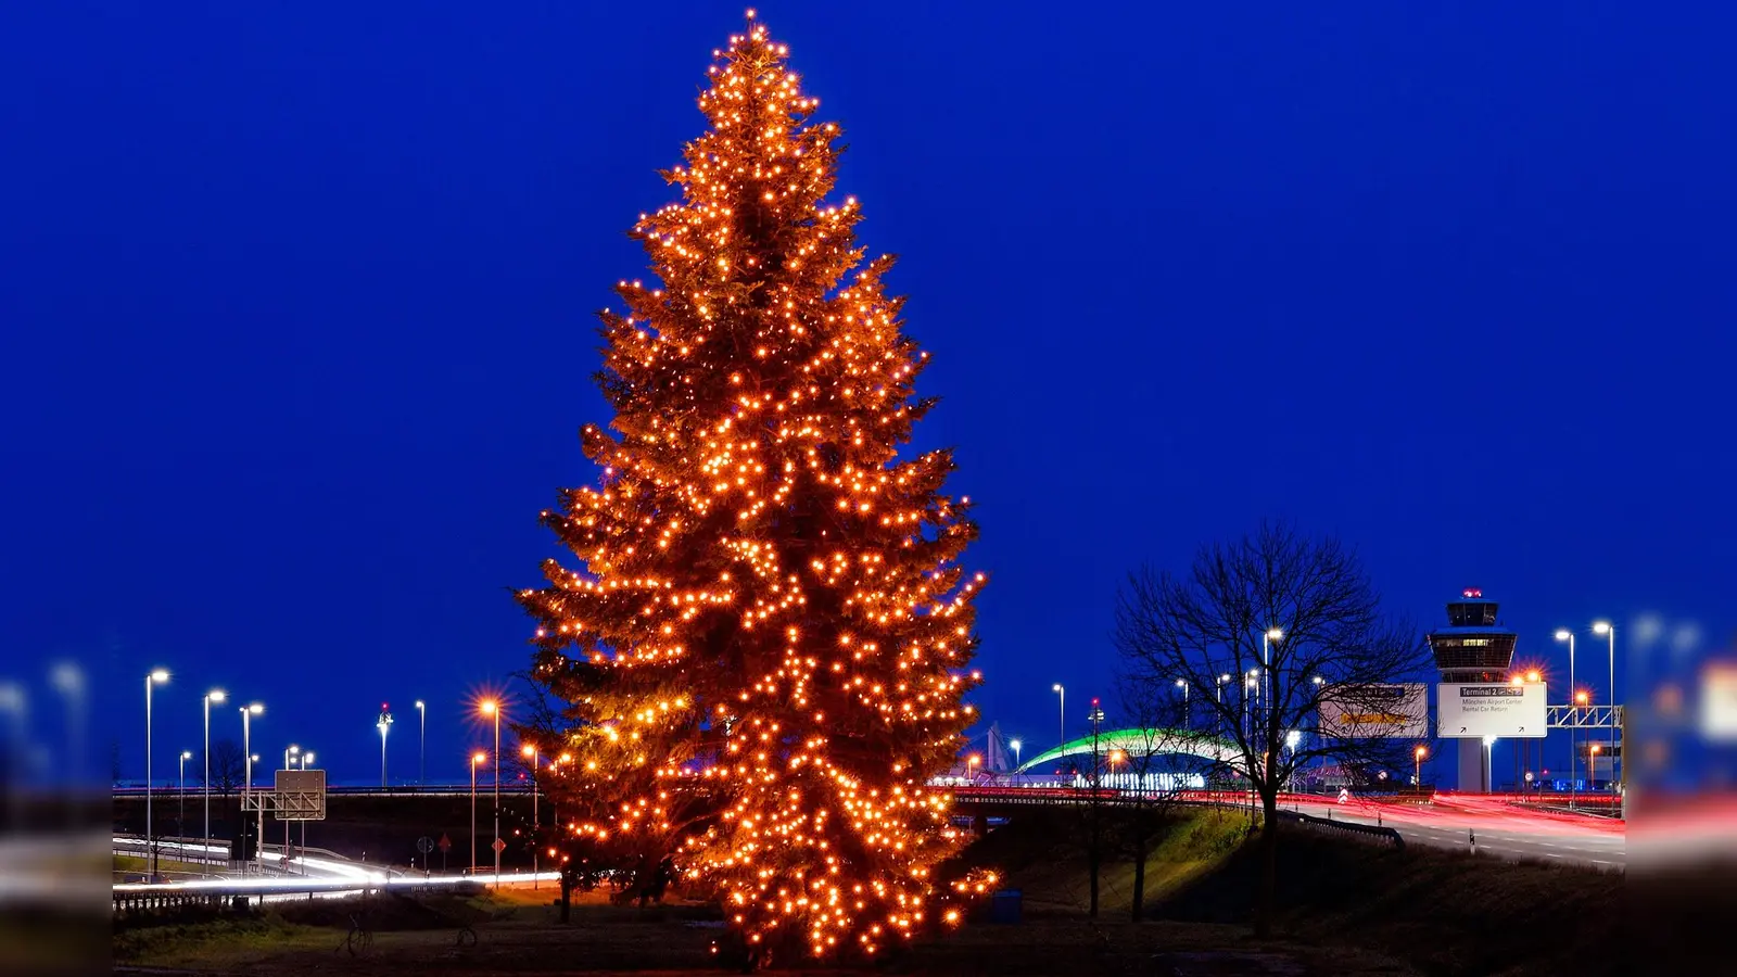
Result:
{"label": "highway road streaked with red light trails at right", "polygon": [[1409,845],[1466,852],[1476,838],[1480,855],[1553,861],[1603,871],[1628,867],[1628,833],[1621,821],[1523,810],[1501,798],[1436,794],[1431,805],[1357,800],[1337,805],[1298,798],[1294,803],[1287,800],[1285,808],[1334,821],[1381,824],[1398,831]]}

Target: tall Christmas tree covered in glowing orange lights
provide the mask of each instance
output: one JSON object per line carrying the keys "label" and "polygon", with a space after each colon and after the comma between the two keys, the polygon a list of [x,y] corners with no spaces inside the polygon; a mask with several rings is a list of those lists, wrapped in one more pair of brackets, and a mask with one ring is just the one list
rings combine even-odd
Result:
{"label": "tall Christmas tree covered in glowing orange lights", "polygon": [[976,525],[950,452],[900,457],[928,353],[827,202],[839,127],[752,12],[714,56],[681,202],[632,231],[658,282],[603,313],[599,485],[544,513],[578,565],[519,593],[568,704],[544,782],[565,843],[670,857],[747,946],[875,953],[994,881],[935,892],[962,836],[926,786],[973,721]]}

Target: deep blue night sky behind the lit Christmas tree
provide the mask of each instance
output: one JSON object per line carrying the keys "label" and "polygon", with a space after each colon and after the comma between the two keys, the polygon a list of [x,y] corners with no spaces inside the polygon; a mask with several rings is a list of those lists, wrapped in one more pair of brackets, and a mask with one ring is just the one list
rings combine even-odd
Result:
{"label": "deep blue night sky behind the lit Christmas tree", "polygon": [[[1263,516],[1355,542],[1421,624],[1482,588],[1523,661],[1605,615],[1619,655],[1728,647],[1728,10],[1087,7],[761,9],[903,256],[921,440],[980,502],[987,718],[1047,746],[1051,683],[1108,694],[1122,574]],[[259,753],[361,782],[382,701],[413,772],[426,699],[462,777],[469,699],[528,662],[537,513],[594,478],[591,313],[740,28],[7,5],[0,671],[36,721],[43,662],[87,662],[141,777],[162,664],[160,777],[214,685],[266,702]]]}

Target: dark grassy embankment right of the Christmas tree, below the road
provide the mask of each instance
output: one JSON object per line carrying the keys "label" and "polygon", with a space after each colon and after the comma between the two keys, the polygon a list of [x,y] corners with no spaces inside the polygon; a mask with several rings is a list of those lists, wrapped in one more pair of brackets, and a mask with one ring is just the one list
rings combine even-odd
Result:
{"label": "dark grassy embankment right of the Christmas tree, below the road", "polygon": [[[1006,866],[1006,885],[1023,888],[1034,916],[1084,913],[1080,831],[1065,819],[1009,824],[973,854]],[[1259,869],[1244,815],[1181,814],[1146,861],[1146,920],[1218,927],[1232,944],[1247,940]],[[1270,946],[1374,953],[1443,977],[1615,972],[1615,874],[1419,845],[1402,852],[1285,827],[1277,878]],[[1131,861],[1110,859],[1100,920],[1126,920],[1131,890]]]}

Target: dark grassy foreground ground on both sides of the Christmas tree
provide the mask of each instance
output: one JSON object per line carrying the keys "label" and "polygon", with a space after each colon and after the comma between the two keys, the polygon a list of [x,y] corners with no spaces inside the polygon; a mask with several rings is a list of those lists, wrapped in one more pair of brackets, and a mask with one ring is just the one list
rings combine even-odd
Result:
{"label": "dark grassy foreground ground on both sides of the Christmas tree", "polygon": [[[1032,812],[981,838],[964,861],[995,866],[1007,888],[1021,890],[1023,923],[974,923],[881,961],[879,970],[947,977],[1624,972],[1617,876],[1417,847],[1395,852],[1303,831],[1282,838],[1277,932],[1254,940],[1249,921],[1258,850],[1245,843],[1249,822],[1235,812],[1186,812],[1166,826],[1146,861],[1146,920],[1139,923],[1129,918],[1133,864],[1106,857],[1100,916],[1087,920],[1082,824],[1080,812]],[[552,897],[552,890],[505,890],[420,902],[401,895],[292,902],[257,916],[122,930],[115,960],[267,977],[306,970],[490,977],[716,970],[707,953],[721,934],[712,907],[674,902],[641,913],[608,906],[598,892],[561,925]],[[373,930],[372,946],[358,956],[334,953],[351,913]],[[474,946],[459,942],[464,927],[474,930]]]}

